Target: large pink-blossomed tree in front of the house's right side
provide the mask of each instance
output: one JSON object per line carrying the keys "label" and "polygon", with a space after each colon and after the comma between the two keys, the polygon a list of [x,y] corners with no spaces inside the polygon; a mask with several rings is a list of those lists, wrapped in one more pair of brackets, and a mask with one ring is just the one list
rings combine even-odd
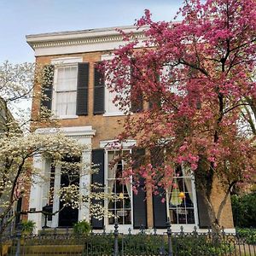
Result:
{"label": "large pink-blossomed tree in front of the house's right side", "polygon": [[[115,102],[127,113],[119,139],[137,138],[160,158],[133,174],[168,189],[175,168],[189,166],[219,230],[232,187],[255,177],[256,3],[186,0],[179,14],[181,22],[154,22],[146,10],[137,20],[143,43],[123,33],[127,44],[104,68]],[[142,101],[145,110],[131,114]],[[225,191],[217,212],[215,178]]]}

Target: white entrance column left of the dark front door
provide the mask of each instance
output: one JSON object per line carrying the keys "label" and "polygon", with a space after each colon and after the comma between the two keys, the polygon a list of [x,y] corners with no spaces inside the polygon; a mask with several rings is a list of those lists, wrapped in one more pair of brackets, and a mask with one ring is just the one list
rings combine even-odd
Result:
{"label": "white entrance column left of the dark front door", "polygon": [[[38,173],[44,173],[45,160],[41,155],[35,155],[33,158],[33,165]],[[39,175],[32,175],[32,186],[30,191],[29,199],[29,210],[30,211],[41,211],[43,207],[43,186],[44,180]],[[29,213],[28,219],[36,223],[35,232],[38,233],[38,230],[42,228],[43,214],[40,213]]]}

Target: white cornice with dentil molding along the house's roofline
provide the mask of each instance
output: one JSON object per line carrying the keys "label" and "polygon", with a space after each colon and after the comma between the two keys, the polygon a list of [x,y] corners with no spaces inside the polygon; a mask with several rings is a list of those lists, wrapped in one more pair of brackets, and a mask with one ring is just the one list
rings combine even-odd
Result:
{"label": "white cornice with dentil molding along the house's roofline", "polygon": [[119,26],[116,28],[90,29],[73,32],[53,32],[26,36],[26,42],[35,50],[35,55],[60,55],[97,50],[109,50],[125,44],[118,30],[132,32],[142,41],[143,30],[135,26]]}

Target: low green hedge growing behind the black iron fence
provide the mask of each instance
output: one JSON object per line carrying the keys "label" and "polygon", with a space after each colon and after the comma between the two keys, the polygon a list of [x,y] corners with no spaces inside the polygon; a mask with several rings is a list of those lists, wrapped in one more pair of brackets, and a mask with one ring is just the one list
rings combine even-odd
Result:
{"label": "low green hedge growing behind the black iron fence", "polygon": [[[113,253],[113,235],[87,237],[85,250],[110,255]],[[159,255],[168,252],[167,236],[124,235],[119,236],[119,250],[125,255]],[[175,255],[222,255],[232,253],[231,242],[210,240],[207,236],[172,236],[172,249]]]}

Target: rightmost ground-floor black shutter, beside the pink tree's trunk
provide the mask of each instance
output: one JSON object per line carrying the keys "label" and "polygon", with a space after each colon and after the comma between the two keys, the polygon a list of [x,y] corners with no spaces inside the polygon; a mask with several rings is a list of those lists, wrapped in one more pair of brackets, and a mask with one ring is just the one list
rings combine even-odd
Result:
{"label": "rightmost ground-floor black shutter, beside the pink tree's trunk", "polygon": [[196,189],[196,202],[197,202],[197,212],[199,227],[201,229],[207,229],[211,227],[211,219],[209,212],[207,211],[207,204],[204,201],[203,191],[201,191],[200,186],[196,186],[196,172],[195,172],[195,189]]}

